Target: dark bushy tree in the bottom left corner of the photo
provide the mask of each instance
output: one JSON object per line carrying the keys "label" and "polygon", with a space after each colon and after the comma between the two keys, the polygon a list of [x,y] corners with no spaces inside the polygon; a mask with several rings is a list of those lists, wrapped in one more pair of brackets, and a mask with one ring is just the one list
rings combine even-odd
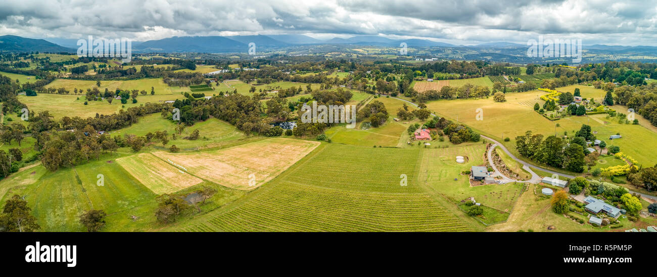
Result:
{"label": "dark bushy tree in the bottom left corner of the photo", "polygon": [[41,228],[34,215],[30,215],[28,202],[14,194],[0,215],[0,231],[2,232],[34,232]]}

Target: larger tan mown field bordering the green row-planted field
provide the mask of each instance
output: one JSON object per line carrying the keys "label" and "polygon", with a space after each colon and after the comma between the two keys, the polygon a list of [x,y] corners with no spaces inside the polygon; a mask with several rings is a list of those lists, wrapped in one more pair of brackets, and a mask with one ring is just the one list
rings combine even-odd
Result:
{"label": "larger tan mown field bordering the green row-planted field", "polygon": [[275,138],[210,152],[154,152],[189,173],[238,190],[252,190],[310,153],[319,142]]}

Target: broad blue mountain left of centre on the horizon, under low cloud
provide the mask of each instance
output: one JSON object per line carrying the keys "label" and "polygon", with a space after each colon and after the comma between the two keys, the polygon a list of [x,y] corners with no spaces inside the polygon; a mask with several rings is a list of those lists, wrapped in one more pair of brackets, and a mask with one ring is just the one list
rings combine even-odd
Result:
{"label": "broad blue mountain left of centre on the horizon, under low cloud", "polygon": [[133,46],[133,49],[142,52],[198,52],[198,53],[230,53],[246,52],[246,43],[235,41],[227,37],[169,37],[144,41]]}

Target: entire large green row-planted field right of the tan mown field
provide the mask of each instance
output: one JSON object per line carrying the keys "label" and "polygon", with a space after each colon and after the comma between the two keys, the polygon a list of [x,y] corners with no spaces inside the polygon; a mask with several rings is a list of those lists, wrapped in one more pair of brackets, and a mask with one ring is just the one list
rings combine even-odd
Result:
{"label": "entire large green row-planted field right of the tan mown field", "polygon": [[[472,230],[420,188],[419,155],[324,144],[244,200],[165,230]],[[407,186],[400,186],[401,174]]]}

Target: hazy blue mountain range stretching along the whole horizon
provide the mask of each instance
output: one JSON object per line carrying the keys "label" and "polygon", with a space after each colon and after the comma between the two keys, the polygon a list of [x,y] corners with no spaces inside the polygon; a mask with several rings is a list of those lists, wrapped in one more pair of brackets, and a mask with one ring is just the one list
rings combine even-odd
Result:
{"label": "hazy blue mountain range stretching along the whole horizon", "polygon": [[[0,36],[0,52],[75,53],[78,49],[77,41],[77,39],[32,39],[3,35]],[[314,51],[350,51],[348,45],[401,47],[401,43],[406,43],[407,47],[424,47],[428,50],[428,56],[443,59],[543,62],[541,58],[528,58],[525,55],[527,45],[520,43],[499,41],[478,45],[453,45],[429,39],[390,39],[378,35],[331,39],[315,39],[299,34],[168,37],[143,42],[133,41],[132,51],[133,53],[246,53],[250,49],[250,43],[255,43],[258,52],[279,49],[306,51],[311,48],[315,48]],[[332,47],[323,47],[325,45]],[[654,46],[584,45],[584,47],[587,51],[586,60],[589,62],[608,60],[609,55],[616,55],[617,60],[643,57],[646,62],[654,62],[657,58],[657,47]]]}

